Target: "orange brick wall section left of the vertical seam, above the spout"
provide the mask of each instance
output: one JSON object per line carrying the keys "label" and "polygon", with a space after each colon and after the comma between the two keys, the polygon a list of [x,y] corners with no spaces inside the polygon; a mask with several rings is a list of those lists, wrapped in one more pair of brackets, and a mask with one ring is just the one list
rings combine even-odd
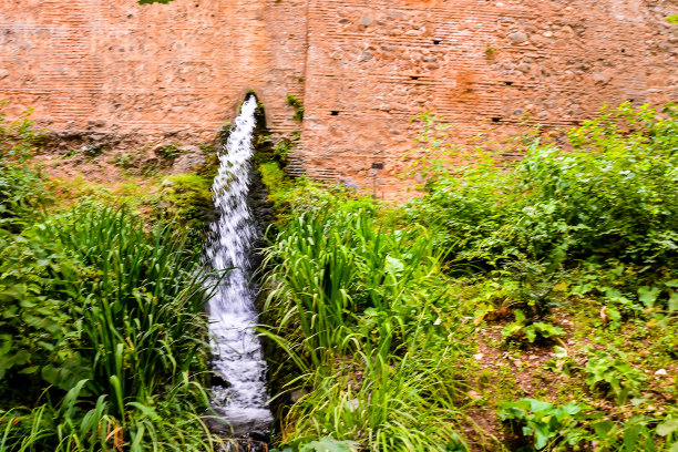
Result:
{"label": "orange brick wall section left of the vertical seam, above the spout", "polygon": [[253,89],[289,131],[306,3],[2,0],[0,92],[56,132],[206,140]]}

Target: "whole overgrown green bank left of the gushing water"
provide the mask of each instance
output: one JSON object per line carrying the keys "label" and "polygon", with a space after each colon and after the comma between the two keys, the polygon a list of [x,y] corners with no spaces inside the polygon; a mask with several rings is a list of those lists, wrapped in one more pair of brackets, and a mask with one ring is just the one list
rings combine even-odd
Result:
{"label": "whole overgrown green bank left of the gushing water", "polygon": [[208,182],[157,174],[142,197],[53,181],[31,163],[42,140],[28,115],[0,122],[0,451],[216,449]]}

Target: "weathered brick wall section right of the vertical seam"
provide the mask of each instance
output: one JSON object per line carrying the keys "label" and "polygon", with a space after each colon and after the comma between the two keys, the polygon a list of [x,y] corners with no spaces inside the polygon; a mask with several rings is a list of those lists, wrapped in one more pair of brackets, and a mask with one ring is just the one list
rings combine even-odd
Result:
{"label": "weathered brick wall section right of the vertical seam", "polygon": [[567,127],[604,103],[678,100],[675,2],[309,2],[302,136],[317,177],[369,187],[383,162],[389,195],[423,111],[471,136],[481,122]]}

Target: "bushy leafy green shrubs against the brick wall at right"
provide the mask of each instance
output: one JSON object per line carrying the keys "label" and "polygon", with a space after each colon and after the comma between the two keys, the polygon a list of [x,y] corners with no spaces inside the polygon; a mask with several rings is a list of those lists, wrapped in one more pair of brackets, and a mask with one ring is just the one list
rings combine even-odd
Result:
{"label": "bushy leafy green shrubs against the brick wall at right", "polygon": [[[553,266],[616,256],[675,267],[676,119],[670,104],[664,116],[624,104],[573,130],[572,151],[530,138],[525,157],[505,168],[481,148],[477,163],[454,172],[444,162],[431,172],[425,161],[428,195],[412,203],[411,218],[438,233],[440,246],[459,263],[530,259]],[[433,132],[421,140],[429,154],[445,148]]]}

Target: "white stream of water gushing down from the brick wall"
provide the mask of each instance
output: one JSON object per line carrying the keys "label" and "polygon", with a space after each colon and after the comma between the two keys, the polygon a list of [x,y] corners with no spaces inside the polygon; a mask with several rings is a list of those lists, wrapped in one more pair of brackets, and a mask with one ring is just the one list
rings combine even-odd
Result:
{"label": "white stream of water gushing down from the brick wall", "polygon": [[206,249],[214,269],[230,268],[209,300],[208,309],[214,338],[213,366],[224,381],[213,388],[212,405],[236,438],[265,436],[273,420],[266,408],[266,361],[254,331],[256,290],[248,278],[251,248],[257,239],[247,207],[256,109],[257,100],[250,95],[219,153],[219,172],[213,186],[218,219],[210,225]]}

